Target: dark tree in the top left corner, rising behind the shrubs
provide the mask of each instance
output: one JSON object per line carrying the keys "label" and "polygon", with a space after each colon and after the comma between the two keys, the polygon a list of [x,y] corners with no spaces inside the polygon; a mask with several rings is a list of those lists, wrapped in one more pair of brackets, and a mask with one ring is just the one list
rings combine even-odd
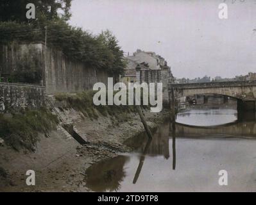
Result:
{"label": "dark tree in the top left corner, rising behind the shrubs", "polygon": [[35,4],[37,20],[69,20],[72,0],[1,0],[0,21],[31,22],[26,19],[26,5]]}

